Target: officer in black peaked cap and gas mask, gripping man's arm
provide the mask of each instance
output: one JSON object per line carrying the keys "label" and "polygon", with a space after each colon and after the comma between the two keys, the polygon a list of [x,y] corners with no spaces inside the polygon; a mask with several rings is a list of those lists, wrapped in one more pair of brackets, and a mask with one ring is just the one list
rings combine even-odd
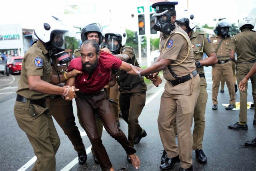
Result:
{"label": "officer in black peaked cap and gas mask, gripping man's arm", "polygon": [[[156,12],[152,15],[154,29],[160,34],[160,57],[156,62],[137,74],[155,73],[163,70],[167,80],[161,97],[158,115],[158,129],[168,160],[160,169],[171,169],[175,163],[180,170],[193,170],[191,126],[193,113],[200,91],[200,77],[196,71],[192,45],[188,34],[175,23],[178,2],[157,2],[152,4]],[[136,71],[132,71],[136,74]],[[178,146],[176,145],[173,123],[176,119]]]}

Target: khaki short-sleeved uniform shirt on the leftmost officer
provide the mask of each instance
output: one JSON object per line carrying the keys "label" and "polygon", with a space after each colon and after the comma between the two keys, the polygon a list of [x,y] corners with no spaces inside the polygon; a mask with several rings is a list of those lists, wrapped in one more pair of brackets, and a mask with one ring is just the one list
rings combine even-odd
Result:
{"label": "khaki short-sleeved uniform shirt on the leftmost officer", "polygon": [[22,60],[17,94],[27,99],[42,99],[48,96],[48,94],[32,91],[28,87],[28,76],[41,76],[41,80],[50,83],[50,58],[46,54],[48,54],[48,50],[40,40],[28,49]]}

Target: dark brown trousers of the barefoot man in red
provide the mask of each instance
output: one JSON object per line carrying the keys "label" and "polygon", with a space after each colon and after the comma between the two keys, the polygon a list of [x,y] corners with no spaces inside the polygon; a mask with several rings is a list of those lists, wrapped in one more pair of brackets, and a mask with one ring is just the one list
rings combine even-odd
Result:
{"label": "dark brown trousers of the barefoot man in red", "polygon": [[98,133],[94,113],[99,115],[106,131],[122,145],[128,155],[136,153],[136,150],[132,147],[125,134],[117,127],[115,116],[105,91],[90,95],[77,91],[76,95],[80,123],[90,139],[102,170],[109,170],[112,164]]}

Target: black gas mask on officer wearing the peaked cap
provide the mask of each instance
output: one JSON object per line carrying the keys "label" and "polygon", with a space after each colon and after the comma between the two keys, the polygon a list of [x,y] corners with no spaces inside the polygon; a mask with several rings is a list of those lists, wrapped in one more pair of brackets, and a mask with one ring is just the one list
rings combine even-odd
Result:
{"label": "black gas mask on officer wearing the peaked cap", "polygon": [[153,26],[154,30],[160,31],[167,35],[170,34],[175,28],[175,24],[170,23],[171,17],[172,14],[170,14],[169,12],[162,16],[156,16],[155,24]]}

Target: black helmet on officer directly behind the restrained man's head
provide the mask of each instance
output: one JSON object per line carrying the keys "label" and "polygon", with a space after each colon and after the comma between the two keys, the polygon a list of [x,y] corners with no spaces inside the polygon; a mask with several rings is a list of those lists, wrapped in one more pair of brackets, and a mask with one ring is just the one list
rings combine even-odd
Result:
{"label": "black helmet on officer directly behind the restrained man's head", "polygon": [[87,40],[87,34],[91,33],[91,32],[98,33],[99,45],[100,45],[101,44],[101,39],[102,39],[102,30],[96,24],[88,24],[88,25],[84,26],[84,28],[81,30],[81,40],[82,40],[82,42]]}

